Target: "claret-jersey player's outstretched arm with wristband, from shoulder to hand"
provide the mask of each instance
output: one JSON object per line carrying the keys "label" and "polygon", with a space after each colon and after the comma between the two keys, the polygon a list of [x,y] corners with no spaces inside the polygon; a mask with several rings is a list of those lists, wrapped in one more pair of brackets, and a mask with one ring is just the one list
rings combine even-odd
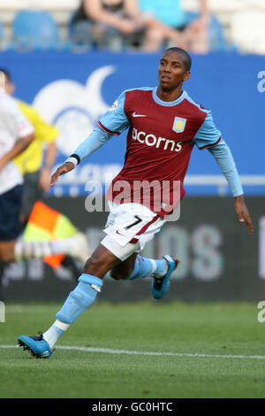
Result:
{"label": "claret-jersey player's outstretched arm with wristband, from shoulder to hand", "polygon": [[102,116],[91,135],[83,143],[79,144],[79,147],[74,150],[70,158],[65,160],[64,165],[59,166],[57,171],[53,173],[50,186],[54,186],[62,174],[71,172],[82,160],[108,142],[113,135],[120,135],[129,127],[124,106],[125,92],[118,96],[109,111]]}

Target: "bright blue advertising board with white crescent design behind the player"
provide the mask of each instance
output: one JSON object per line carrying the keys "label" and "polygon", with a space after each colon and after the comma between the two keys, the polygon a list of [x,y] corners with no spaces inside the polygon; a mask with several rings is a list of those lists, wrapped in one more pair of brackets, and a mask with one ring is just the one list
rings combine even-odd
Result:
{"label": "bright blue advertising board with white crescent design behind the player", "polygon": [[[123,90],[156,85],[159,58],[143,53],[4,52],[0,66],[11,72],[15,95],[59,128],[57,164],[61,164]],[[265,58],[233,54],[193,56],[192,75],[185,84],[196,102],[212,110],[248,195],[265,193],[264,87]],[[123,166],[125,136],[113,137],[62,177],[52,193],[85,195],[88,179],[109,183]],[[208,150],[194,148],[186,191],[186,195],[229,194]]]}

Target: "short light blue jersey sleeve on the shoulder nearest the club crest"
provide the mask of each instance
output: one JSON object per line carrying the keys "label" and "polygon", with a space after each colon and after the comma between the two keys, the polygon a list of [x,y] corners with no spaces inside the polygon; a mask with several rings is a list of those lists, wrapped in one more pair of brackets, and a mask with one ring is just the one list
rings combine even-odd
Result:
{"label": "short light blue jersey sleeve on the shoulder nearest the club crest", "polygon": [[221,132],[216,128],[212,113],[209,111],[206,119],[193,138],[193,143],[200,149],[206,149],[215,145],[221,137]]}

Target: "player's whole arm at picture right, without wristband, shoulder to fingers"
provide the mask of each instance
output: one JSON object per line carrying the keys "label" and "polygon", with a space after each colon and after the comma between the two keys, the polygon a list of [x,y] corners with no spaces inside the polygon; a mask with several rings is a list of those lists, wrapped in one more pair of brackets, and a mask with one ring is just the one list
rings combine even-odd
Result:
{"label": "player's whole arm at picture right, without wristband, shoulder to fingers", "polygon": [[244,201],[244,191],[236,164],[230,148],[221,138],[221,132],[216,128],[210,111],[208,111],[204,122],[194,136],[193,143],[200,150],[208,149],[216,159],[234,196],[235,210],[238,214],[239,221],[245,222],[249,234],[253,234],[253,223]]}

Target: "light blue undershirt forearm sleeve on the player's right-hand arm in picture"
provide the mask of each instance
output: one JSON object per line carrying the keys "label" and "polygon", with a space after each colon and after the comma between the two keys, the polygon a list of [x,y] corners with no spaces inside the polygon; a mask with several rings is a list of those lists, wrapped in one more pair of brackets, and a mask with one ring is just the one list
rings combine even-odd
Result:
{"label": "light blue undershirt forearm sleeve on the player's right-hand arm in picture", "polygon": [[216,146],[209,147],[208,151],[213,155],[217,164],[220,166],[220,169],[231,188],[232,195],[243,195],[244,191],[239,179],[239,173],[228,145],[222,139]]}

